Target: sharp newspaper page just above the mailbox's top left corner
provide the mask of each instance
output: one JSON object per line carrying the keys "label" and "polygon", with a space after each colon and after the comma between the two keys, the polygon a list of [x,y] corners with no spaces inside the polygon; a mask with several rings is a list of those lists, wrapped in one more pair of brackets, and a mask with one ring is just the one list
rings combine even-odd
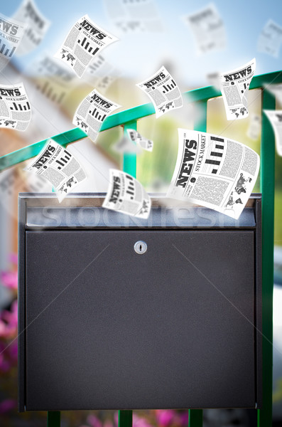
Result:
{"label": "sharp newspaper page just above the mailbox's top left corner", "polygon": [[53,139],[48,140],[25,170],[47,179],[53,185],[59,202],[86,179],[85,171],[77,159]]}

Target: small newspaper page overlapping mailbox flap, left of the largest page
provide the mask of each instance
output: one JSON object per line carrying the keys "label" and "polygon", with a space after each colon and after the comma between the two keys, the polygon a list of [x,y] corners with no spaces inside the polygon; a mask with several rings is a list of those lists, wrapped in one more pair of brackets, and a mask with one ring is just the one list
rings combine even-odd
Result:
{"label": "small newspaper page overlapping mailbox flap, left of the largest page", "polygon": [[151,199],[137,179],[118,169],[109,169],[109,180],[109,189],[103,208],[136,216],[136,218],[148,218]]}

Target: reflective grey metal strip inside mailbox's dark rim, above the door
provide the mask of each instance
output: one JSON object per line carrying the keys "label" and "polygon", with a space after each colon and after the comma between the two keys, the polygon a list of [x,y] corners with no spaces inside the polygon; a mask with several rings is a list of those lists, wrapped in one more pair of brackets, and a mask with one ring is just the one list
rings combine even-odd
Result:
{"label": "reflective grey metal strip inside mailbox's dark rim, above the door", "polygon": [[197,207],[153,207],[148,219],[134,218],[102,207],[38,207],[27,209],[27,226],[35,227],[254,227],[254,209],[244,209],[239,219],[220,214],[202,206]]}

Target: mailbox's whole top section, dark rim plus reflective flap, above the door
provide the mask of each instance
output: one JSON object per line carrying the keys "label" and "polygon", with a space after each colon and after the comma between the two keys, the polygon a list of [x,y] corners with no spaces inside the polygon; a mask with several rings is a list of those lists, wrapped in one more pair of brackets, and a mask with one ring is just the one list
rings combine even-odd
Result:
{"label": "mailbox's whole top section, dark rim plus reflective flap, above the door", "polygon": [[19,218],[25,228],[254,228],[257,201],[251,194],[238,220],[203,206],[150,194],[148,219],[102,207],[106,193],[71,193],[59,203],[55,193],[20,193]]}

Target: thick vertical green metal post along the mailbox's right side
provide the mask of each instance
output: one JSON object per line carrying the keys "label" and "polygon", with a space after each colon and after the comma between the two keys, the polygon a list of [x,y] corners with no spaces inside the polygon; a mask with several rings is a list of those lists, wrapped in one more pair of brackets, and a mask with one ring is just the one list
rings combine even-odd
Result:
{"label": "thick vertical green metal post along the mailbox's right side", "polygon": [[[275,97],[264,90],[262,110],[275,110]],[[262,391],[258,426],[272,426],[272,339],[273,339],[273,240],[275,137],[269,119],[261,112],[261,209],[262,209]]]}

